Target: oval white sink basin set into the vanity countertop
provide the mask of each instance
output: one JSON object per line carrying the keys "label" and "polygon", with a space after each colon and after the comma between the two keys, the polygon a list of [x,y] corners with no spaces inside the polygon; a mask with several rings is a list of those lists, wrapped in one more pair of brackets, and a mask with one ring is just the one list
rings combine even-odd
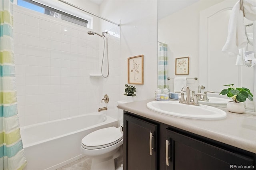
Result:
{"label": "oval white sink basin set into the vanity countertop", "polygon": [[218,120],[227,117],[226,112],[207,105],[186,105],[178,101],[152,101],[147,103],[148,109],[158,113],[203,120]]}

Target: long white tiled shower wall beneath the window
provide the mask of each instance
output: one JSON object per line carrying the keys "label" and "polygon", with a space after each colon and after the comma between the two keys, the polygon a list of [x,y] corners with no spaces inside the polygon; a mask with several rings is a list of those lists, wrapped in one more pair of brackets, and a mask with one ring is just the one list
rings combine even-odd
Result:
{"label": "long white tiled shower wall beneath the window", "polygon": [[98,109],[103,83],[89,77],[89,73],[99,69],[99,39],[87,31],[82,26],[14,6],[21,126]]}

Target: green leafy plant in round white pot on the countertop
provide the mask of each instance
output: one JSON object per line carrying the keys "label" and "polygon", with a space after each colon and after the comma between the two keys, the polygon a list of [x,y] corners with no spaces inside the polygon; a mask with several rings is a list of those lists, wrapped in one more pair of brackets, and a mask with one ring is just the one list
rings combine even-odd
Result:
{"label": "green leafy plant in round white pot on the countertop", "polygon": [[227,97],[231,97],[233,101],[228,102],[227,109],[228,111],[234,113],[243,113],[244,112],[244,101],[249,99],[253,100],[253,95],[249,89],[245,87],[234,87],[234,84],[224,85],[229,86],[228,89],[223,89],[220,92],[220,95],[227,95]]}

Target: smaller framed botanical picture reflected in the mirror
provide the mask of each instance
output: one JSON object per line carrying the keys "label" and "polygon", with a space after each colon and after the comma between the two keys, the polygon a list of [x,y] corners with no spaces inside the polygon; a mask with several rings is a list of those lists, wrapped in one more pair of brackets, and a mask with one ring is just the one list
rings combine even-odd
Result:
{"label": "smaller framed botanical picture reflected in the mirror", "polygon": [[189,57],[175,59],[175,75],[189,74]]}

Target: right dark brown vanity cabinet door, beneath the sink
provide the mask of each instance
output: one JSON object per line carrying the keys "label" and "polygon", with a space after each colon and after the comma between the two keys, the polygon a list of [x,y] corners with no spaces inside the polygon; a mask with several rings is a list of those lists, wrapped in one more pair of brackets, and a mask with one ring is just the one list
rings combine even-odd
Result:
{"label": "right dark brown vanity cabinet door, beneath the sink", "polygon": [[255,168],[254,161],[252,157],[166,129],[167,170],[229,170],[238,165]]}

